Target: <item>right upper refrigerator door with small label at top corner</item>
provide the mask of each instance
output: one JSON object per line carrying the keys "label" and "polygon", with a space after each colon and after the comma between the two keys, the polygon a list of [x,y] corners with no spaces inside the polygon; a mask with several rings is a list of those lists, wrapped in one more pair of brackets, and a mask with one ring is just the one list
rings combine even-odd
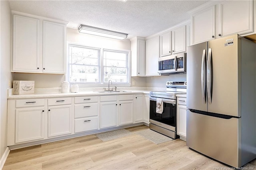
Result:
{"label": "right upper refrigerator door with small label at top corner", "polygon": [[238,71],[238,35],[209,41],[208,112],[241,116],[238,112]]}

